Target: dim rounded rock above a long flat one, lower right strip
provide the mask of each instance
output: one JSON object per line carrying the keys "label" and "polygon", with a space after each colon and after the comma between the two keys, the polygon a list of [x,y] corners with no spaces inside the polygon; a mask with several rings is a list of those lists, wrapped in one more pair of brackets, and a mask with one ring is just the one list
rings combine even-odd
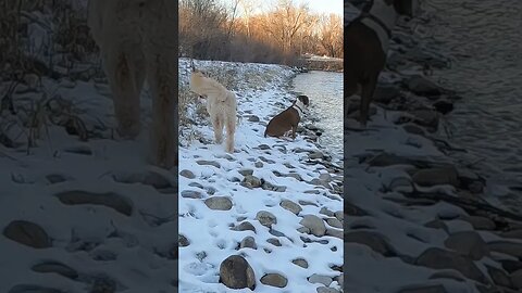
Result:
{"label": "dim rounded rock above a long flat one, lower right strip", "polygon": [[475,231],[463,231],[450,234],[444,245],[462,255],[469,256],[473,260],[478,260],[489,255],[486,242]]}

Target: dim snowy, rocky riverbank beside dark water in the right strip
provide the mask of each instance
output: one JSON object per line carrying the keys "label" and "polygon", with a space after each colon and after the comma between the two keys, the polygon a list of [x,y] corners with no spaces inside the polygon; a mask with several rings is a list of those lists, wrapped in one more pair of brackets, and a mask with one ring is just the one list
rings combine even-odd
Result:
{"label": "dim snowy, rocky riverbank beside dark water in the right strip", "polygon": [[[522,289],[522,216],[487,201],[475,162],[457,160],[467,150],[446,135],[460,97],[431,72],[449,64],[397,27],[368,129],[347,124],[347,292]],[[352,117],[357,107],[353,99]]]}

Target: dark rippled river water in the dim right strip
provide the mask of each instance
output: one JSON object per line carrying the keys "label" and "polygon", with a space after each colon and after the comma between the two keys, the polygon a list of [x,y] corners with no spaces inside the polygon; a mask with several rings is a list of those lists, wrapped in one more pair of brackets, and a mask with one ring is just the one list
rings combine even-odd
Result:
{"label": "dark rippled river water in the dim right strip", "polygon": [[[452,59],[434,80],[463,98],[447,116],[450,141],[487,178],[486,196],[522,207],[522,2],[428,0],[420,27]],[[514,206],[512,206],[514,204]]]}

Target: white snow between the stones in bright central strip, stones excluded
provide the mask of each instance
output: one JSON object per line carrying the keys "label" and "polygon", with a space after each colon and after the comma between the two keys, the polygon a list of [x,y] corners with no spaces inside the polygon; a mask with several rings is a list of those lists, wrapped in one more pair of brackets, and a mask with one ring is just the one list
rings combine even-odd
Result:
{"label": "white snow between the stones in bright central strip, stones excluded", "polygon": [[[181,60],[181,82],[187,82],[187,60]],[[263,275],[271,272],[281,273],[288,279],[287,286],[277,292],[314,291],[319,284],[308,282],[307,278],[311,275],[319,273],[331,277],[339,275],[330,267],[343,265],[343,242],[341,239],[334,237],[315,238],[298,232],[297,229],[301,227],[300,216],[316,215],[321,217],[319,212],[322,207],[334,212],[341,211],[343,199],[332,194],[323,187],[306,182],[319,178],[325,168],[321,165],[304,165],[306,153],[296,151],[298,149],[324,150],[318,149],[314,143],[306,141],[301,136],[289,142],[263,137],[263,124],[283,110],[276,103],[283,103],[287,107],[291,99],[295,99],[284,87],[294,72],[278,65],[196,62],[198,69],[203,68],[204,71],[215,66],[232,68],[238,76],[269,76],[268,79],[272,81],[262,87],[254,87],[254,89],[251,88],[252,85],[237,85],[239,89],[234,90],[238,99],[238,113],[244,116],[236,130],[236,152],[234,154],[226,154],[223,145],[204,144],[199,141],[187,142],[186,145],[179,146],[179,170],[188,169],[196,176],[194,179],[181,176],[179,191],[201,190],[192,186],[202,186],[207,190],[215,190],[213,195],[228,196],[234,203],[229,211],[212,211],[200,199],[179,196],[179,233],[190,241],[190,245],[179,249],[179,292],[229,292],[229,289],[219,283],[219,269],[221,262],[229,255],[236,254],[244,255],[256,273],[254,292],[274,292],[275,288],[260,282]],[[313,97],[310,99],[313,101]],[[257,115],[260,123],[248,122],[245,118],[248,116],[246,113]],[[207,140],[212,141],[213,130],[208,124],[190,127],[200,131]],[[259,145],[262,144],[270,148],[261,150]],[[286,151],[284,153],[279,150]],[[261,157],[270,163],[262,162]],[[216,162],[221,168],[198,165],[197,160]],[[263,167],[257,168],[257,162],[262,162]],[[288,168],[288,166],[293,166],[293,168]],[[239,173],[241,169],[251,169],[253,176],[263,178],[274,186],[284,186],[286,191],[275,192],[261,188],[243,187],[239,183],[244,179]],[[273,171],[297,173],[304,181],[293,177],[277,177]],[[316,190],[319,194],[304,193],[311,190]],[[206,192],[202,191],[202,193]],[[206,194],[203,200],[210,196],[210,194]],[[282,200],[290,200],[295,203],[306,201],[311,205],[301,205],[302,211],[299,216],[296,216],[279,206]],[[277,247],[266,242],[274,235],[270,233],[269,228],[256,220],[256,215],[260,211],[268,211],[276,217],[277,222],[272,226],[272,229],[285,234],[285,237],[277,237],[282,246]],[[232,225],[243,221],[238,218],[251,222],[257,232],[231,230]],[[254,238],[258,249],[245,247],[237,251],[238,243],[247,235]],[[328,243],[306,244],[300,239],[301,235],[312,240],[327,240]],[[333,247],[336,247],[335,251],[332,251]],[[266,253],[263,249],[270,250],[271,253]],[[201,252],[206,253],[206,257],[198,259],[198,254]],[[291,260],[296,258],[307,259],[308,269],[293,264]],[[335,283],[334,281],[331,286],[339,289],[339,285]],[[238,292],[250,292],[250,290]]]}

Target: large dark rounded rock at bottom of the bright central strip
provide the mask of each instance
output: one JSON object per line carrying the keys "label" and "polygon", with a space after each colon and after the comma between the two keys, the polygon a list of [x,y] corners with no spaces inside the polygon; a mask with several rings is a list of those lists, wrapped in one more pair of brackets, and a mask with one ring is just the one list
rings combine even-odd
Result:
{"label": "large dark rounded rock at bottom of the bright central strip", "polygon": [[256,276],[247,259],[239,255],[231,255],[221,263],[220,282],[231,289],[253,290]]}

